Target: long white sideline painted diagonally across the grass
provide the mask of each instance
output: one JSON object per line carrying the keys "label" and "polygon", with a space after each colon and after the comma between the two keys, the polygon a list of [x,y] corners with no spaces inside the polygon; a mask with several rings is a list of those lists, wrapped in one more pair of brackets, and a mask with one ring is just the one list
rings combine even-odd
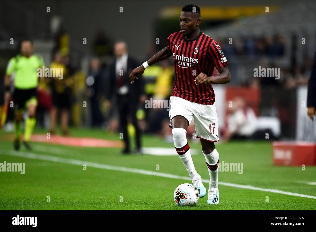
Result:
{"label": "long white sideline painted diagonally across the grass", "polygon": [[[16,157],[40,159],[40,160],[46,160],[46,161],[52,161],[52,162],[58,162],[58,163],[64,163],[64,164],[75,164],[75,165],[81,165],[81,166],[83,164],[86,164],[87,166],[90,166],[90,167],[106,169],[106,170],[132,172],[132,173],[138,173],[138,174],[144,174],[144,175],[155,175],[155,176],[167,177],[167,178],[172,178],[172,179],[181,179],[181,180],[191,181],[191,178],[186,177],[186,176],[173,175],[173,174],[168,174],[168,173],[163,173],[163,172],[148,171],[148,170],[136,169],[136,168],[112,166],[108,164],[99,164],[99,163],[88,162],[88,161],[83,161],[83,160],[40,155],[40,154],[31,153],[31,152],[16,152],[16,151],[11,151],[11,150],[0,150],[0,153],[3,155],[7,154],[10,156],[16,156]],[[205,180],[203,182],[209,183],[209,181],[205,181]],[[300,193],[285,192],[285,191],[277,190],[277,189],[254,187],[251,185],[233,184],[233,183],[227,183],[227,182],[221,182],[221,181],[219,181],[218,184],[230,186],[230,187],[236,187],[236,188],[245,188],[245,189],[258,190],[258,191],[264,191],[264,192],[270,192],[270,193],[280,193],[280,194],[285,194],[285,195],[290,195],[290,196],[316,199],[316,196],[310,196],[310,195],[305,195],[305,194],[300,194]]]}

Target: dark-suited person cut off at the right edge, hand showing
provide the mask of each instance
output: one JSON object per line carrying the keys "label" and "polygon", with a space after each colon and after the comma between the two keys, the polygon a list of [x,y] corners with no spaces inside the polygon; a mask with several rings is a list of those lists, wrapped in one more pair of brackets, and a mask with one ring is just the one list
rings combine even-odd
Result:
{"label": "dark-suited person cut off at the right edge, hand showing", "polygon": [[314,54],[311,76],[308,80],[307,107],[307,115],[313,120],[316,108],[316,52]]}

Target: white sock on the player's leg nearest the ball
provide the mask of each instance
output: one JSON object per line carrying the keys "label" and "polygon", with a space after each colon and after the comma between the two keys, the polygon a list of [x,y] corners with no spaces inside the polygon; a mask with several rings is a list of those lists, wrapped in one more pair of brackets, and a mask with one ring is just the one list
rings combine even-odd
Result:
{"label": "white sock on the player's leg nearest the ball", "polygon": [[174,147],[176,148],[182,163],[184,164],[190,175],[190,178],[192,179],[192,177],[198,175],[198,173],[195,170],[191,157],[190,146],[188,140],[186,139],[186,130],[184,128],[173,128],[172,135]]}

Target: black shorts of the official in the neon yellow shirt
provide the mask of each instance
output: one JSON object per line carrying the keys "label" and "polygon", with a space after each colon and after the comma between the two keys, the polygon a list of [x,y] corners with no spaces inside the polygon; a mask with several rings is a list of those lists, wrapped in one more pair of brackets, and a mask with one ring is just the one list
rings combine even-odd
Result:
{"label": "black shorts of the official in the neon yellow shirt", "polygon": [[30,99],[35,99],[37,101],[37,89],[17,89],[15,88],[13,92],[13,103],[15,110],[24,110],[26,108],[26,103]]}

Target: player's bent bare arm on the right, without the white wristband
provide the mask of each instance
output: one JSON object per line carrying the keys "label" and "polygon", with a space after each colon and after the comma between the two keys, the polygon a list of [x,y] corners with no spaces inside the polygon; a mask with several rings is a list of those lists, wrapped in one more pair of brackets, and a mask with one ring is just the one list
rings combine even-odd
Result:
{"label": "player's bent bare arm on the right, without the white wristband", "polygon": [[207,76],[204,73],[200,73],[195,78],[196,85],[205,84],[226,84],[230,82],[230,72],[227,66],[217,69],[219,74],[216,76]]}

